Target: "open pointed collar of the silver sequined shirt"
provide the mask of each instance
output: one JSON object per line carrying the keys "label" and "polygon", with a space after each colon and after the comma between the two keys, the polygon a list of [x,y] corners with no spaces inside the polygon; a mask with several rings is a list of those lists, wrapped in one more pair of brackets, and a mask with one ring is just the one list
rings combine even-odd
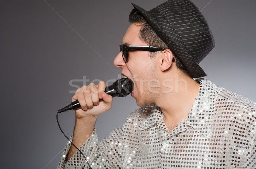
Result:
{"label": "open pointed collar of the silver sequined shirt", "polygon": [[[204,78],[196,79],[196,81],[200,83],[198,95],[195,98],[194,104],[191,107],[188,116],[184,120],[186,120],[186,126],[191,126],[193,129],[209,138],[217,87],[215,84]],[[150,116],[139,127],[139,129],[148,129],[154,124],[159,123],[163,123],[163,112],[159,107],[154,105],[151,108]]]}

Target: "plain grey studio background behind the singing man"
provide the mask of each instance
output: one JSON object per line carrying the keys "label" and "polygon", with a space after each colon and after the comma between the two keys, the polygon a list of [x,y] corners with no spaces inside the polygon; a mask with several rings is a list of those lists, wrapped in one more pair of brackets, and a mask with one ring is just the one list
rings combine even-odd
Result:
{"label": "plain grey studio background behind the singing man", "polygon": [[[121,69],[113,59],[129,26],[131,2],[150,10],[164,1],[47,0],[51,7],[44,0],[1,1],[1,168],[56,168],[67,140],[55,115],[71,102],[70,91],[76,88],[70,80],[82,86],[83,76],[89,82],[119,78]],[[200,63],[207,79],[255,101],[256,1],[193,2],[216,42]],[[111,111],[97,120],[99,139],[122,126],[137,108],[131,96],[114,98]],[[67,135],[74,119],[73,111],[59,117]]]}

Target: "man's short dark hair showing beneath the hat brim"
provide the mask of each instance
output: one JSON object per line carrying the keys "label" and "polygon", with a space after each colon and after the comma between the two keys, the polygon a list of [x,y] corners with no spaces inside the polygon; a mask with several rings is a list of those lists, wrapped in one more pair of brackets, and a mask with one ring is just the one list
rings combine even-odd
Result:
{"label": "man's short dark hair showing beneath the hat brim", "polygon": [[[169,49],[166,43],[157,35],[154,29],[149,25],[149,23],[144,19],[142,14],[137,9],[133,9],[129,15],[129,22],[141,26],[140,29],[140,39],[147,43],[149,46],[155,46],[163,49]],[[170,50],[170,49],[169,49]],[[173,52],[172,52],[173,53]],[[150,52],[150,57],[154,58],[157,52]],[[173,53],[174,54],[174,53]],[[175,56],[175,54],[174,54]],[[175,56],[175,63],[177,68],[180,69],[184,74],[191,77],[189,72],[186,70],[183,63],[178,57]]]}

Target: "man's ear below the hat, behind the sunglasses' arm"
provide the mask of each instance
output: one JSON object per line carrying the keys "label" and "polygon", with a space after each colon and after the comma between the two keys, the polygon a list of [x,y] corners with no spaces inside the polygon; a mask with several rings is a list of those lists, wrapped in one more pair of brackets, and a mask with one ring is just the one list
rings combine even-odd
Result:
{"label": "man's ear below the hat, behind the sunglasses' arm", "polygon": [[160,70],[161,71],[166,71],[168,70],[171,65],[172,65],[172,58],[173,58],[173,54],[172,51],[170,51],[169,49],[164,50],[159,57],[159,63],[160,63]]}

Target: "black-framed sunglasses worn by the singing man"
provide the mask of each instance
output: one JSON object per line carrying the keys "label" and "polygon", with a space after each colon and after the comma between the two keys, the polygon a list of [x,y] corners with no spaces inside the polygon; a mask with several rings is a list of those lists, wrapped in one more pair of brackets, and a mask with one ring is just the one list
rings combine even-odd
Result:
{"label": "black-framed sunglasses worn by the singing man", "polygon": [[148,52],[157,52],[163,51],[165,49],[154,47],[154,46],[137,46],[137,45],[119,45],[120,52],[122,51],[122,57],[125,62],[128,62],[128,50],[134,51],[148,51]]}

